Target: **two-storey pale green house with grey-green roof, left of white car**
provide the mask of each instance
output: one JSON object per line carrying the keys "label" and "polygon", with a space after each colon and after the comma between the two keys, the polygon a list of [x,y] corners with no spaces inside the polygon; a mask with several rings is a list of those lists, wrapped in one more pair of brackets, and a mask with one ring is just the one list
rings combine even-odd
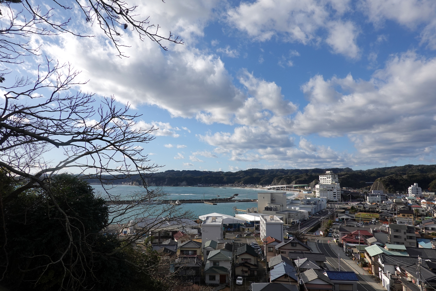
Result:
{"label": "two-storey pale green house with grey-green roof, left of white car", "polygon": [[232,252],[212,250],[204,266],[204,281],[207,284],[225,284],[229,280]]}

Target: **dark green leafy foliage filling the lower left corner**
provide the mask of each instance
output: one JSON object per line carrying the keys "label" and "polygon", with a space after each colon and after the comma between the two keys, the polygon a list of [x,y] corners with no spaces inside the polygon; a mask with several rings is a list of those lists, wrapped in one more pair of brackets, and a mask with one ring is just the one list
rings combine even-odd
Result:
{"label": "dark green leafy foliage filling the lower left corner", "polygon": [[[13,181],[2,175],[2,195]],[[123,261],[147,267],[158,262],[156,253],[131,246],[108,256],[122,244],[116,236],[99,233],[108,222],[108,207],[95,198],[86,181],[73,175],[57,175],[52,193],[71,223],[72,244],[65,217],[44,191],[21,193],[4,205],[9,262],[1,284],[12,290],[160,290],[152,277]],[[4,242],[3,233],[0,237]],[[3,265],[2,264],[2,265]],[[3,272],[4,267],[1,268]],[[74,278],[74,279],[73,279]]]}

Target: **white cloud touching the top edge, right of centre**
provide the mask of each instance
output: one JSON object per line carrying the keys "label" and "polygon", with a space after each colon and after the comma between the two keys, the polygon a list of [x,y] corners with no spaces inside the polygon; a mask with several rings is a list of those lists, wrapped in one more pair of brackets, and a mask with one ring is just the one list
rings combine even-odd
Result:
{"label": "white cloud touching the top edge, right of centre", "polygon": [[[229,24],[244,31],[256,41],[276,37],[303,45],[319,45],[323,41],[334,53],[358,58],[358,30],[341,17],[350,9],[348,0],[298,1],[256,0],[241,2],[228,10]],[[333,8],[333,9],[332,9]],[[328,37],[324,38],[324,31]]]}

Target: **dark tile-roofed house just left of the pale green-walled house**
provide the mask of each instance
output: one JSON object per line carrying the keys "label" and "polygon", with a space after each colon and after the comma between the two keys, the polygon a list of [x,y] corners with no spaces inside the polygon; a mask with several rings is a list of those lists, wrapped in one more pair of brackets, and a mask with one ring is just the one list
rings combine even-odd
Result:
{"label": "dark tile-roofed house just left of the pale green-walled house", "polygon": [[[201,245],[201,244],[200,244]],[[181,256],[174,264],[174,274],[183,282],[193,282],[199,284],[201,282],[201,267],[203,261],[198,256]]]}

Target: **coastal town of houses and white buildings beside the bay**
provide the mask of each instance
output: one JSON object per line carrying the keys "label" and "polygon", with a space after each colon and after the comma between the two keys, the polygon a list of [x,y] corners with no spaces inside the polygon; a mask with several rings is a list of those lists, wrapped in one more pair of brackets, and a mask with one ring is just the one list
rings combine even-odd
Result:
{"label": "coastal town of houses and white buildings beside the bay", "polygon": [[[136,247],[156,251],[168,266],[162,272],[214,290],[436,287],[434,192],[415,183],[407,193],[387,193],[380,182],[353,191],[331,171],[319,181],[290,198],[258,192],[257,208],[234,208],[233,216],[155,223]],[[132,221],[104,231],[128,237],[139,227]]]}

